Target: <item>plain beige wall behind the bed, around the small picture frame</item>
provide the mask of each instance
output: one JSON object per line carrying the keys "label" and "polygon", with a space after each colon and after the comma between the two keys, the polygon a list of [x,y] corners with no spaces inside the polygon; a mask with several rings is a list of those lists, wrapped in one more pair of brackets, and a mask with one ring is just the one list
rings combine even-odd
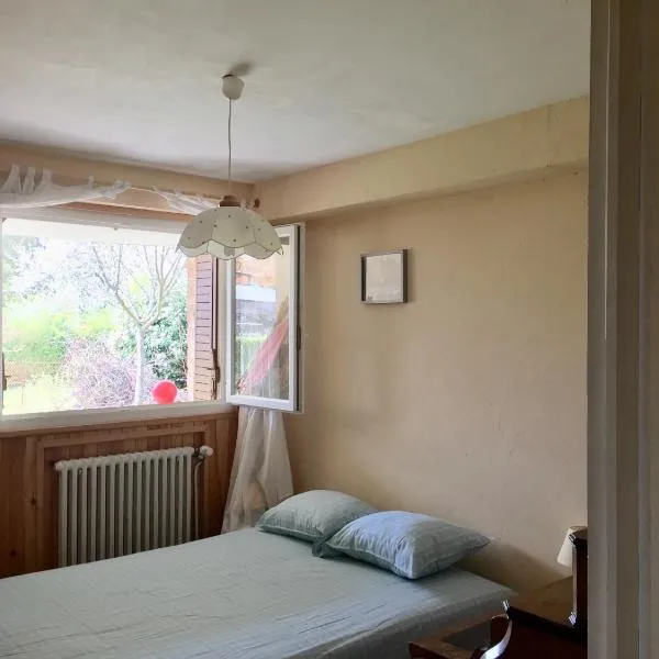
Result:
{"label": "plain beige wall behind the bed, around the small picture frame", "polygon": [[[493,536],[472,568],[556,576],[585,521],[587,176],[315,220],[306,233],[298,490]],[[359,255],[409,247],[411,301],[359,302]]]}

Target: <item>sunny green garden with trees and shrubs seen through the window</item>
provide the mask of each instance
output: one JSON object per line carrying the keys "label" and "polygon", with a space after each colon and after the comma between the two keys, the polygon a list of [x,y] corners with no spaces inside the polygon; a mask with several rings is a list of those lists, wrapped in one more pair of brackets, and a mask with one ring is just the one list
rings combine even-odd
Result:
{"label": "sunny green garden with trees and shrubs seen through the window", "polygon": [[2,238],[3,413],[187,400],[187,272],[170,245]]}

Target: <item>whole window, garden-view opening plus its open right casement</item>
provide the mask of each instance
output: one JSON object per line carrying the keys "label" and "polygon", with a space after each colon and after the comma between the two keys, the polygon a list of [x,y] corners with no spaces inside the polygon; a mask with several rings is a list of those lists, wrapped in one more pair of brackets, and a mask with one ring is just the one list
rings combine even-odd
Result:
{"label": "whole window, garden-view opening plus its open right casement", "polygon": [[278,228],[281,255],[225,269],[177,252],[178,221],[20,215],[0,234],[2,414],[222,398],[300,410],[300,226]]}

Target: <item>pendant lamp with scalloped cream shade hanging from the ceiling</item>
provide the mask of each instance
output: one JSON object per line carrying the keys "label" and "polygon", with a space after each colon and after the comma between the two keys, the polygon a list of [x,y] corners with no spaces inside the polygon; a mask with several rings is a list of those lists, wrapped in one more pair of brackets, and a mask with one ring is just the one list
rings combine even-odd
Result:
{"label": "pendant lamp with scalloped cream shade hanging from the ceiling", "polygon": [[[228,74],[222,79],[222,92],[228,100],[228,190],[232,183],[233,102],[243,94],[245,82]],[[186,256],[210,254],[223,260],[232,260],[246,254],[264,259],[281,253],[281,241],[272,225],[257,212],[244,208],[233,194],[225,194],[220,205],[196,215],[186,226],[178,243]]]}

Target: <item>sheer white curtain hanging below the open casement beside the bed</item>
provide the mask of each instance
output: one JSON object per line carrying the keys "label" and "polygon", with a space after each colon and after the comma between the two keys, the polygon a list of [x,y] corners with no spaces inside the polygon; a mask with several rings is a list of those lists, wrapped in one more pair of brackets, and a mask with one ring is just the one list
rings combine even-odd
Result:
{"label": "sheer white curtain hanging below the open casement beside the bed", "polygon": [[222,533],[254,526],[266,510],[292,493],[281,412],[241,407]]}

